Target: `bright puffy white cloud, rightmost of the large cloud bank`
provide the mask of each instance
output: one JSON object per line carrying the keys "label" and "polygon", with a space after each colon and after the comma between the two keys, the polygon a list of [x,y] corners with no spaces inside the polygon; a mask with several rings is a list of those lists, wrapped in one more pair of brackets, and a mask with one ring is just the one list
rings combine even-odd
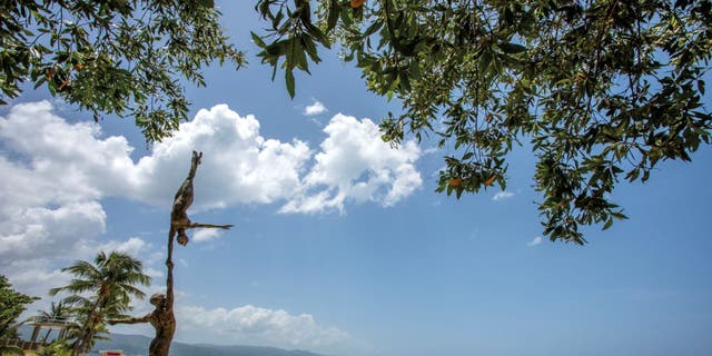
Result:
{"label": "bright puffy white cloud, rightmost of the large cloud bank", "polygon": [[299,195],[283,212],[344,211],[346,201],[393,206],[413,194],[423,180],[415,168],[421,150],[414,141],[398,149],[380,139],[369,119],[337,113],[324,128],[327,138],[316,164],[305,176]]}

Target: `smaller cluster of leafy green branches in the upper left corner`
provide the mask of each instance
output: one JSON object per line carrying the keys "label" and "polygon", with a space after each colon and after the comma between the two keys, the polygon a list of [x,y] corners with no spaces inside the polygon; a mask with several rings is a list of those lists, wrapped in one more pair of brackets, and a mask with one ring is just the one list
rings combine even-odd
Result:
{"label": "smaller cluster of leafy green branches in the upper left corner", "polygon": [[187,119],[181,80],[205,86],[201,67],[245,61],[219,14],[208,0],[1,1],[0,105],[30,81],[160,140]]}

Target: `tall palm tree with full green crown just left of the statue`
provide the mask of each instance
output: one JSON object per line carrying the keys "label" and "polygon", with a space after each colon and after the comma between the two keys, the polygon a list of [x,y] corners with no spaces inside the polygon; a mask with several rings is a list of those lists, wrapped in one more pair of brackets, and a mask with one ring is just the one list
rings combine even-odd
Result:
{"label": "tall palm tree with full green crown just left of the statue", "polygon": [[[95,264],[77,261],[73,266],[62,268],[77,278],[65,287],[50,289],[50,295],[60,291],[72,293],[65,299],[72,305],[78,305],[78,319],[81,327],[77,334],[77,340],[72,348],[72,356],[87,350],[97,330],[101,329],[107,313],[119,313],[129,309],[131,296],[144,298],[145,294],[135,285],[147,286],[150,278],[142,273],[140,260],[121,253],[111,253],[107,256],[103,251],[95,258]],[[80,294],[90,293],[89,297]]]}

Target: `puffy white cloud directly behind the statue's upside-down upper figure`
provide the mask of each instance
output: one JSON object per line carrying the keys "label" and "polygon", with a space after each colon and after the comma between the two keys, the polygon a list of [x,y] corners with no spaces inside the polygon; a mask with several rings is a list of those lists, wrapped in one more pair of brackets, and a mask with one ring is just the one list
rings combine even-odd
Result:
{"label": "puffy white cloud directly behind the statue's upside-down upper figure", "polygon": [[306,142],[266,139],[254,116],[240,117],[218,105],[199,110],[174,137],[157,144],[151,156],[140,159],[136,196],[169,205],[185,179],[191,150],[204,154],[194,210],[285,199],[298,189],[299,174],[312,156]]}

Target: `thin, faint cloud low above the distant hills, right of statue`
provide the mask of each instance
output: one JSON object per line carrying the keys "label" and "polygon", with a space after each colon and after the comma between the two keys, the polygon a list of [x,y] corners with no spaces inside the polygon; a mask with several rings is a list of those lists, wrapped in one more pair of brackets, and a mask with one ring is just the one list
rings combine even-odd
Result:
{"label": "thin, faint cloud low above the distant hills, right of statue", "polygon": [[179,320],[179,333],[189,335],[209,329],[214,332],[215,339],[208,342],[220,344],[257,343],[286,348],[319,349],[349,338],[347,333],[338,328],[317,324],[309,314],[294,315],[251,305],[234,309],[178,307],[176,317]]}

